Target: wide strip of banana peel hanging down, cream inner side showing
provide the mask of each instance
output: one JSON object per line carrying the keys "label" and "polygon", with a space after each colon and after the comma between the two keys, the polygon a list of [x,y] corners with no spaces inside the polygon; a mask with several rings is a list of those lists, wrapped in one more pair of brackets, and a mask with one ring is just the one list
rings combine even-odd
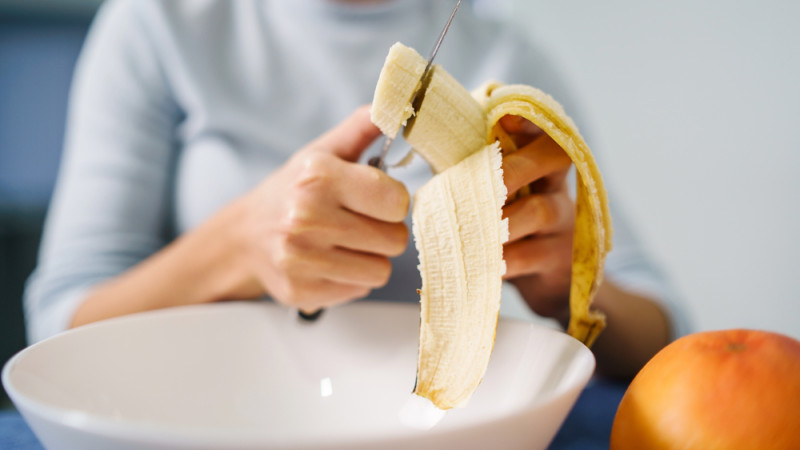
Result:
{"label": "wide strip of banana peel hanging down, cream inner side showing", "polygon": [[508,240],[501,164],[500,148],[487,145],[415,196],[422,288],[414,392],[441,409],[467,402],[494,345]]}

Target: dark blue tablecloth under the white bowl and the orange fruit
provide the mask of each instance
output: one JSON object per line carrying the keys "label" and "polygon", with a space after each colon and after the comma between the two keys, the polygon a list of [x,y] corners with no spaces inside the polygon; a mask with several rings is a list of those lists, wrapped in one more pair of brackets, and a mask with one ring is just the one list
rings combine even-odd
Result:
{"label": "dark blue tablecloth under the white bowl and the orange fruit", "polygon": [[[611,424],[626,385],[594,379],[583,391],[553,440],[551,449],[592,450],[608,448]],[[42,445],[14,410],[0,412],[0,449],[39,450]]]}

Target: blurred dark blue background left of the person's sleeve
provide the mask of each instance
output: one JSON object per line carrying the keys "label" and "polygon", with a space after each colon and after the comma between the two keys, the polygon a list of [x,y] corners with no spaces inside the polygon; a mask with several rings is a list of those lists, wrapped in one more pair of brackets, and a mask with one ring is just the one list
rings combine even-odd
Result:
{"label": "blurred dark blue background left of the person's sleeve", "polygon": [[[36,261],[72,69],[100,1],[0,0],[0,361],[25,346],[22,289]],[[0,392],[0,407],[8,405]]]}

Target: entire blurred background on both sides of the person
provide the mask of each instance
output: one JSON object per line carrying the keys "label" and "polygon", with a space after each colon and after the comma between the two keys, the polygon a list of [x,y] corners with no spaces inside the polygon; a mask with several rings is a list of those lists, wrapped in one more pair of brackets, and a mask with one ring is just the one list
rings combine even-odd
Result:
{"label": "entire blurred background on both sides of the person", "polygon": [[[23,283],[73,65],[99,3],[0,0],[2,362],[25,345]],[[800,2],[473,6],[519,27],[561,66],[614,199],[695,329],[800,338]]]}

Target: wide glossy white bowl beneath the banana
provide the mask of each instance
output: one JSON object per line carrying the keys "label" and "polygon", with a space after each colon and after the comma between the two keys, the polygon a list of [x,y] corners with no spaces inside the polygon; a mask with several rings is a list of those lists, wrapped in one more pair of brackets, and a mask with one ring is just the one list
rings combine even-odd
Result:
{"label": "wide glossy white bowl beneath the banana", "polygon": [[173,308],[30,346],[3,385],[51,449],[531,449],[594,370],[577,340],[501,319],[469,404],[431,427],[410,393],[418,326],[418,306],[387,302],[313,323],[268,302]]}

